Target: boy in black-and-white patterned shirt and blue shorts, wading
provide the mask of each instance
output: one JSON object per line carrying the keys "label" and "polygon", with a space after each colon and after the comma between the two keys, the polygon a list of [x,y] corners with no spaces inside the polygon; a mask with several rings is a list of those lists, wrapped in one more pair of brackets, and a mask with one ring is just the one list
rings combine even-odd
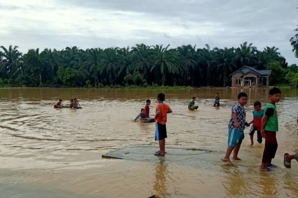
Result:
{"label": "boy in black-and-white patterned shirt and blue shorts, wading", "polygon": [[233,160],[240,160],[238,158],[238,152],[244,139],[244,123],[246,112],[244,105],[247,103],[247,94],[241,92],[238,94],[238,103],[232,107],[232,115],[229,122],[229,136],[228,136],[228,148],[226,149],[226,155],[221,161],[231,164],[230,155],[234,150]]}

